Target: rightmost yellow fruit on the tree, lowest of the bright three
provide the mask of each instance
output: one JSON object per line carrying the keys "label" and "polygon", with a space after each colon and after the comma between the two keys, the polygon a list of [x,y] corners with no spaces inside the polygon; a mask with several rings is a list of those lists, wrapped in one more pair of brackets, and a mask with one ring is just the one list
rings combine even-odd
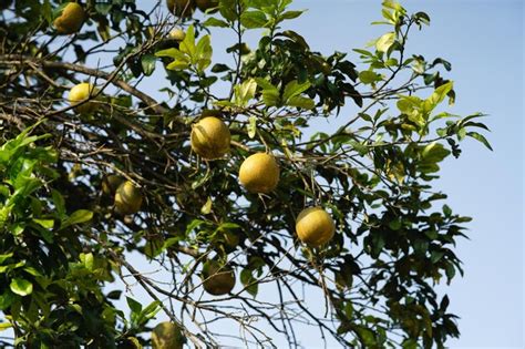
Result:
{"label": "rightmost yellow fruit on the tree, lowest of the bright three", "polygon": [[296,233],[302,243],[319,247],[332,239],[336,224],[322,207],[309,207],[297,216]]}

